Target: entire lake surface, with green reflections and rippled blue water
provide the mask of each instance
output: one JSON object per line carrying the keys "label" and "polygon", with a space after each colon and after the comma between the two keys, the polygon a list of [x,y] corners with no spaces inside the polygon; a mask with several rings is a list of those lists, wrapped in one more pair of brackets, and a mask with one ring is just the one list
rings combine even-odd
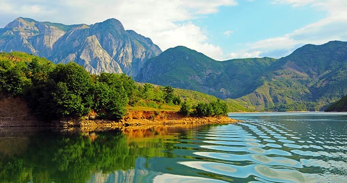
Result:
{"label": "entire lake surface, with green reflections and rippled blue water", "polygon": [[0,182],[347,182],[347,113],[232,113],[227,125],[0,128]]}

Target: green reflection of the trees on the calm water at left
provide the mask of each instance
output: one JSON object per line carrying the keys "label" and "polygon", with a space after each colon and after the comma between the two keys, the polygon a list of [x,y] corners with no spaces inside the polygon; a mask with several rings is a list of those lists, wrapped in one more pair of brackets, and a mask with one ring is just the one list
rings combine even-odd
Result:
{"label": "green reflection of the trees on the calm water at left", "polygon": [[[163,137],[166,140],[136,142],[117,131],[91,135],[47,131],[26,140],[4,138],[1,147],[13,151],[0,152],[0,182],[88,182],[93,173],[133,169],[139,156],[167,156],[174,143],[171,136]],[[11,148],[14,144],[23,148]]]}

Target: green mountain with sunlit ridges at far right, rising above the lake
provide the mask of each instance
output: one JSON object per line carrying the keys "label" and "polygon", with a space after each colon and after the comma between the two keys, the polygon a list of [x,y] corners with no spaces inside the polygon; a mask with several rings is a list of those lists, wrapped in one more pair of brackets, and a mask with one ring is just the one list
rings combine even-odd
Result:
{"label": "green mountain with sunlit ridges at far right, rising above the lake", "polygon": [[264,84],[240,97],[255,110],[323,110],[347,94],[347,42],[305,45],[279,59]]}

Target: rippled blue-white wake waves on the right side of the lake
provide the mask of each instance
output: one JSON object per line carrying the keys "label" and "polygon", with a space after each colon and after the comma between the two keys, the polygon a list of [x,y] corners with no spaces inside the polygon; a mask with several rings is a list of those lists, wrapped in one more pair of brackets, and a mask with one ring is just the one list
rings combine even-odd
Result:
{"label": "rippled blue-white wake waves on the right side of the lake", "polygon": [[179,164],[235,182],[347,182],[346,123],[252,119],[213,126],[198,134],[199,158]]}

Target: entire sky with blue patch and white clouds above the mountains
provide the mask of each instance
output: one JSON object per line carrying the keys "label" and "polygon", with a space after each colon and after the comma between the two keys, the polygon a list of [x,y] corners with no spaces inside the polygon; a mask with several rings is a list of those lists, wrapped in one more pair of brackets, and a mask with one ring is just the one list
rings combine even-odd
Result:
{"label": "entire sky with blue patch and white clouds above the mountains", "polygon": [[0,0],[0,28],[18,17],[65,25],[115,18],[162,51],[281,58],[305,44],[347,41],[346,10],[345,0]]}

